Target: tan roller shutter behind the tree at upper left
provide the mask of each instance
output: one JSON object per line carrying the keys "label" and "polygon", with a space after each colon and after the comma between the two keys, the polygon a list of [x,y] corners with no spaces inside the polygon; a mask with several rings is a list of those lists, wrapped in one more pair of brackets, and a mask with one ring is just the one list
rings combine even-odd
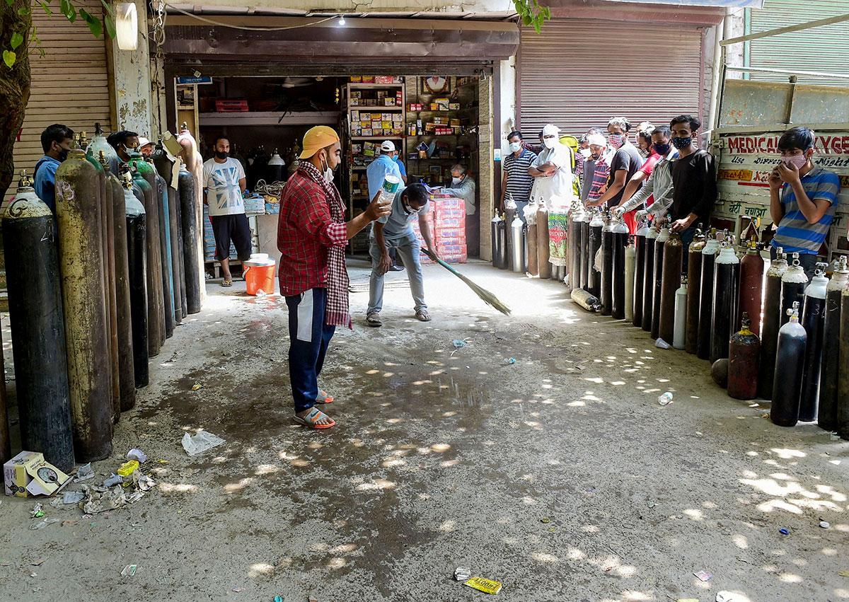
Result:
{"label": "tan roller shutter behind the tree at upper left", "polygon": [[[98,17],[103,14],[100,0],[82,0],[75,6]],[[44,56],[34,53],[30,57],[30,101],[20,141],[14,145],[15,171],[25,169],[30,175],[44,155],[41,135],[45,127],[64,123],[74,132],[88,132],[89,137],[95,122],[104,130],[112,129],[104,37],[93,37],[80,19],[69,23],[55,7],[54,13],[50,16],[38,7],[32,12]],[[7,197],[16,186],[17,178]]]}

